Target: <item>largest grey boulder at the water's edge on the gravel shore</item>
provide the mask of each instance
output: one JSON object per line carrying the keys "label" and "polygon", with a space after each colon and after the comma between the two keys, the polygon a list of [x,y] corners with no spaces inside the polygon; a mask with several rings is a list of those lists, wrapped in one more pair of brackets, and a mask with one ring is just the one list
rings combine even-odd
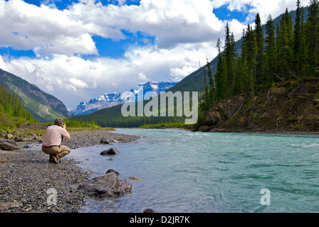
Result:
{"label": "largest grey boulder at the water's edge on the gravel shore", "polygon": [[119,179],[115,172],[95,177],[79,186],[80,192],[94,196],[120,196],[132,189],[127,179]]}

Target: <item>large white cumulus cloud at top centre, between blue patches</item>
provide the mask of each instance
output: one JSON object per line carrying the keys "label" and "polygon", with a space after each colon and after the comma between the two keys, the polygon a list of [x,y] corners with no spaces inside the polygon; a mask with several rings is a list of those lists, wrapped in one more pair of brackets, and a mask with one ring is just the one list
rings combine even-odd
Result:
{"label": "large white cumulus cloud at top centre, between blue patches", "polygon": [[212,9],[207,0],[142,0],[140,6],[103,6],[88,1],[70,6],[73,18],[94,24],[95,34],[122,39],[122,30],[143,31],[157,37],[159,48],[214,38],[224,25]]}

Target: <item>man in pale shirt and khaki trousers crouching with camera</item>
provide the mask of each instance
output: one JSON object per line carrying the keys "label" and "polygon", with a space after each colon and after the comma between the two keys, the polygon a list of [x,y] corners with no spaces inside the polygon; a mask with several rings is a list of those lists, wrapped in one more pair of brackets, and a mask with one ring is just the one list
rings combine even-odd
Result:
{"label": "man in pale shirt and khaki trousers crouching with camera", "polygon": [[57,118],[53,126],[48,126],[46,135],[42,143],[44,153],[50,155],[49,162],[58,164],[59,160],[70,153],[70,148],[61,145],[63,138],[70,139],[70,134],[66,131],[66,124],[62,118]]}

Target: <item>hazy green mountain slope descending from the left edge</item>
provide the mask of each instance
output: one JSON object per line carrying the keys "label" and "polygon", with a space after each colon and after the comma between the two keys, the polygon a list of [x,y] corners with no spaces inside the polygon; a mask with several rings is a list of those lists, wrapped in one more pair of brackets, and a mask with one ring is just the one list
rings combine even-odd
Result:
{"label": "hazy green mountain slope descending from the left edge", "polygon": [[62,101],[21,77],[0,69],[0,83],[4,83],[5,87],[16,93],[23,101],[25,109],[42,123],[53,122],[58,117],[71,116]]}

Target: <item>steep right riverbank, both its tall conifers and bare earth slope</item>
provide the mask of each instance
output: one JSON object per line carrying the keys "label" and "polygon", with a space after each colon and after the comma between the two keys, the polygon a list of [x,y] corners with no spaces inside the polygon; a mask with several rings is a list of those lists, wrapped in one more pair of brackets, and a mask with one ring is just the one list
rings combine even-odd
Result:
{"label": "steep right riverbank, both its tall conifers and bare earth slope", "polygon": [[254,31],[243,31],[240,54],[226,25],[224,52],[202,96],[199,131],[318,131],[318,1],[305,11],[298,0],[295,21],[288,10],[276,25],[269,16],[266,34],[258,13],[255,23]]}

